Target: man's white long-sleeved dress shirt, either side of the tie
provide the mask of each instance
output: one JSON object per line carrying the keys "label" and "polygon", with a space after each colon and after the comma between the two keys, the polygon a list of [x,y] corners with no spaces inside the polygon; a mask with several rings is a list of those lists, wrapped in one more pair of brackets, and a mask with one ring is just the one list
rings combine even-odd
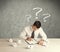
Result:
{"label": "man's white long-sleeved dress shirt, either side of the tie", "polygon": [[[31,37],[32,32],[33,32],[32,26],[27,26],[21,32],[20,38],[26,39],[27,37]],[[40,35],[43,40],[47,41],[47,35],[43,31],[42,27],[40,27],[34,32],[34,39],[37,39],[38,35]]]}

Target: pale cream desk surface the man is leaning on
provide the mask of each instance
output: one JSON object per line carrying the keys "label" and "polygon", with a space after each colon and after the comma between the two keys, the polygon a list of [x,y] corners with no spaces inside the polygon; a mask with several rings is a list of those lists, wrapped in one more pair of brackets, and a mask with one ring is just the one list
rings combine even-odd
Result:
{"label": "pale cream desk surface the man is leaning on", "polygon": [[22,43],[18,47],[10,46],[10,42],[7,39],[0,39],[0,52],[60,52],[60,39],[48,39],[49,43],[47,47],[35,45],[32,49],[26,49],[26,42]]}

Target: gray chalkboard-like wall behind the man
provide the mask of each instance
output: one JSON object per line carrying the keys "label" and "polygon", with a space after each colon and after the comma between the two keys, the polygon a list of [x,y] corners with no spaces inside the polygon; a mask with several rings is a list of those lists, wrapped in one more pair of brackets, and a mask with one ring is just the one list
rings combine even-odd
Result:
{"label": "gray chalkboard-like wall behind the man", "polygon": [[[0,0],[0,38],[16,38],[27,25],[35,21],[35,7],[43,8],[38,17],[42,28],[49,38],[60,38],[60,1],[59,0]],[[44,13],[51,17],[43,22]],[[26,15],[32,15],[30,22]]]}

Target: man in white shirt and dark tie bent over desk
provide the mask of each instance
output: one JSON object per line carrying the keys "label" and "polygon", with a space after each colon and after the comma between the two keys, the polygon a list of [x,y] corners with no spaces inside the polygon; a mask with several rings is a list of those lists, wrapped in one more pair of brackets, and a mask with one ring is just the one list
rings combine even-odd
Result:
{"label": "man in white shirt and dark tie bent over desk", "polygon": [[41,27],[41,22],[35,21],[32,26],[25,27],[23,32],[20,34],[20,37],[31,41],[32,39],[37,39],[38,35],[40,35],[42,38],[37,41],[37,44],[43,45],[44,42],[47,41],[47,36]]}

